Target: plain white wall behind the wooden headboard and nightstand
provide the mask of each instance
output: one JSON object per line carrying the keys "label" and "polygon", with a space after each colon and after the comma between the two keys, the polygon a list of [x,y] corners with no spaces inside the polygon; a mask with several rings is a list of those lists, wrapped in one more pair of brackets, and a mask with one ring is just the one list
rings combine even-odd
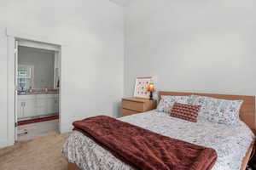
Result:
{"label": "plain white wall behind the wooden headboard and nightstand", "polygon": [[125,8],[125,95],[157,89],[256,94],[256,1],[140,0]]}

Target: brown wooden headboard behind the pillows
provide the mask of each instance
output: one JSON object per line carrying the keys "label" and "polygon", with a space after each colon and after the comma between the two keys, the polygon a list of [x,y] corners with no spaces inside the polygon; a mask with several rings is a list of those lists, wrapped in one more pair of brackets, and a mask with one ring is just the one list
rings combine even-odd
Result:
{"label": "brown wooden headboard behind the pillows", "polygon": [[255,126],[255,96],[244,96],[244,95],[227,95],[227,94],[196,94],[196,93],[183,93],[183,92],[165,92],[160,91],[158,94],[159,100],[161,95],[201,95],[218,99],[242,99],[243,103],[240,110],[240,118],[242,122],[245,122],[250,127],[254,134],[256,134]]}

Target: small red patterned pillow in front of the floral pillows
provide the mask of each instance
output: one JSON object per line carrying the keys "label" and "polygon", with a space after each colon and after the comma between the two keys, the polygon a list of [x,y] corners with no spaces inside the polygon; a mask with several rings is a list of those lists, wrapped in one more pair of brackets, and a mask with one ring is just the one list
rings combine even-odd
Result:
{"label": "small red patterned pillow in front of the floral pillows", "polygon": [[186,105],[175,103],[172,107],[171,116],[181,118],[190,122],[196,122],[201,105]]}

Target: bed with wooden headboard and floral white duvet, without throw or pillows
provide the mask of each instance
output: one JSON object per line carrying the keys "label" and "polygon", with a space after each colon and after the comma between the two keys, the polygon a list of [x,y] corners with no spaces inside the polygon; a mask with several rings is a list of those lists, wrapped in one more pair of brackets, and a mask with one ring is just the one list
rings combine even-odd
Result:
{"label": "bed with wooden headboard and floral white duvet, without throw or pillows", "polygon": [[[162,95],[191,95],[193,93],[160,92]],[[137,115],[119,118],[174,139],[181,139],[192,144],[212,147],[218,153],[218,160],[213,170],[244,170],[253,150],[255,134],[255,98],[253,96],[196,94],[218,99],[242,99],[238,126],[225,126],[204,121],[197,123],[168,116],[166,113],[148,111]],[[172,130],[170,130],[172,129]],[[133,169],[112,156],[83,133],[73,132],[63,147],[63,155],[69,162],[68,169]]]}

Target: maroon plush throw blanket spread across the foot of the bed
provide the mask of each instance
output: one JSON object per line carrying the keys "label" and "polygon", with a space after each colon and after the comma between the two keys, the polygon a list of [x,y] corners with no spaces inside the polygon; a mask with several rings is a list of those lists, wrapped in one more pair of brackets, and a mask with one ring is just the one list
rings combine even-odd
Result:
{"label": "maroon plush throw blanket spread across the foot of the bed", "polygon": [[90,117],[73,122],[73,126],[137,169],[209,170],[217,159],[211,148],[172,139],[109,116]]}

